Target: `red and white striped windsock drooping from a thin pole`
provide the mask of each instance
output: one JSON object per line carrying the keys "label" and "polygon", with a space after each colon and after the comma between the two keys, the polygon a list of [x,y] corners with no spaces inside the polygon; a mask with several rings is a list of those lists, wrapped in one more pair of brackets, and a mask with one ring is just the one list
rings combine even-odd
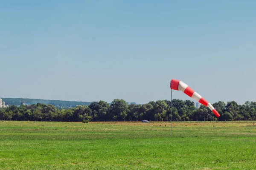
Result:
{"label": "red and white striped windsock drooping from a thin pole", "polygon": [[177,90],[177,91],[182,91],[184,92],[186,95],[188,95],[189,97],[191,97],[192,99],[195,99],[196,101],[198,101],[199,103],[201,103],[202,105],[207,106],[209,109],[211,109],[211,111],[217,116],[221,116],[218,111],[216,111],[215,108],[213,108],[213,106],[207,102],[206,99],[204,99],[202,96],[200,96],[197,92],[195,92],[192,88],[190,88],[188,85],[186,85],[184,82],[177,80],[177,79],[172,79],[171,80],[171,85],[170,85],[171,89],[173,90]]}

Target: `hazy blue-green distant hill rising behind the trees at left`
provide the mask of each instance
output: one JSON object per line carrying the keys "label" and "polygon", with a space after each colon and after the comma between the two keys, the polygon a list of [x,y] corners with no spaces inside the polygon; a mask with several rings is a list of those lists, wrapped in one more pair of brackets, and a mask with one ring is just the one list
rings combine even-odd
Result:
{"label": "hazy blue-green distant hill rising behind the trees at left", "polygon": [[76,105],[90,105],[90,102],[74,102],[74,101],[64,101],[64,100],[45,100],[45,99],[23,99],[23,98],[1,98],[6,105],[21,105],[21,101],[25,105],[32,105],[37,103],[54,105],[57,108],[70,108],[76,107]]}

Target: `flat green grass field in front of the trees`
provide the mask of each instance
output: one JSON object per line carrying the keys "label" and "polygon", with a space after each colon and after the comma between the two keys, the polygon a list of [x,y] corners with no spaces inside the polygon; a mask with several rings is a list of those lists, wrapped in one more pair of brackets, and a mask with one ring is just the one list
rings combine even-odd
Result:
{"label": "flat green grass field in front of the trees", "polygon": [[256,169],[256,123],[172,125],[0,121],[0,169]]}

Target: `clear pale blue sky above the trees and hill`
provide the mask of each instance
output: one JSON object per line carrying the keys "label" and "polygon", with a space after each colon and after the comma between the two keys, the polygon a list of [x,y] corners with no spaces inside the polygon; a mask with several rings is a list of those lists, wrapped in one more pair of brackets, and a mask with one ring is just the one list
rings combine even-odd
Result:
{"label": "clear pale blue sky above the trees and hill", "polygon": [[256,1],[1,1],[0,70],[0,97],[256,101]]}

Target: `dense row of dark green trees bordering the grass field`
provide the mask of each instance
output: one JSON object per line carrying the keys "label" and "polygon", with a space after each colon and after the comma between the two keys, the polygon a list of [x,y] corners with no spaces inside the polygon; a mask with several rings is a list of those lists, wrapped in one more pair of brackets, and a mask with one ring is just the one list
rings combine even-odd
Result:
{"label": "dense row of dark green trees bordering the grass field", "polygon": [[[172,107],[171,107],[172,105]],[[114,99],[111,104],[105,101],[91,102],[90,105],[78,105],[75,108],[59,109],[53,105],[32,104],[12,105],[0,109],[0,120],[25,121],[230,121],[256,120],[256,102],[238,105],[235,101],[216,102],[213,107],[220,113],[217,118],[212,111],[201,105],[195,108],[190,100],[173,99],[151,101],[143,105],[130,104],[123,99]]]}

